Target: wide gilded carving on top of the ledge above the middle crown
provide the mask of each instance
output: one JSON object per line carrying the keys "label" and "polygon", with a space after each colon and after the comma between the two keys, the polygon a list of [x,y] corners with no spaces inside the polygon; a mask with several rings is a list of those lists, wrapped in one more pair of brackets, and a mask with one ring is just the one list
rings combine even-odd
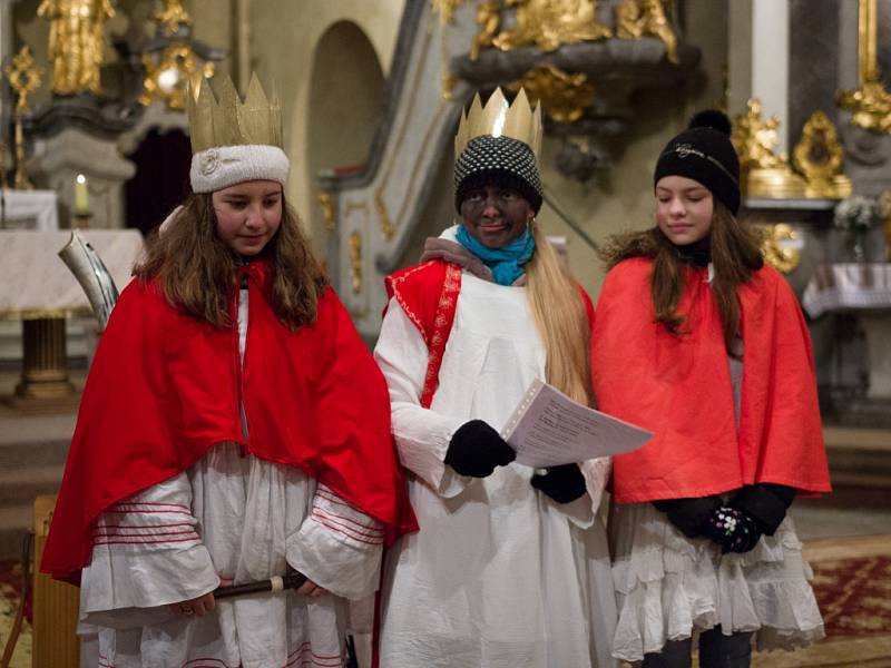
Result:
{"label": "wide gilded carving on top of the ledge above the middle crown", "polygon": [[535,45],[549,52],[564,45],[613,36],[597,21],[597,0],[505,0],[505,7],[516,8],[517,26],[492,40],[502,51]]}

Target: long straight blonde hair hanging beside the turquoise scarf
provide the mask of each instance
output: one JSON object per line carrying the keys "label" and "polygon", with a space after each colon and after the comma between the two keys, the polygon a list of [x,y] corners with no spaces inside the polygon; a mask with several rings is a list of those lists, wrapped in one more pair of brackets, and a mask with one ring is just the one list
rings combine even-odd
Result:
{"label": "long straight blonde hair hanging beside the turquoise scarf", "polygon": [[536,252],[526,264],[527,295],[547,351],[548,383],[593,405],[590,323],[581,292],[535,220],[530,228]]}

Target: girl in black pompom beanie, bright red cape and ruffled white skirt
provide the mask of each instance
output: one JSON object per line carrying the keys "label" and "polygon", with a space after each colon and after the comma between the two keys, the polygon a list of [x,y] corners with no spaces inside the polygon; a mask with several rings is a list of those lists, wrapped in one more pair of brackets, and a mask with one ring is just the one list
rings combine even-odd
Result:
{"label": "girl in black pompom beanie, bright red cape and ruffled white skirt", "polygon": [[[712,127],[714,126],[714,127]],[[804,320],[736,218],[730,121],[703,112],[654,177],[657,225],[613,239],[591,335],[601,410],[655,432],[614,460],[614,656],[750,665],[823,637],[786,509],[830,491]]]}

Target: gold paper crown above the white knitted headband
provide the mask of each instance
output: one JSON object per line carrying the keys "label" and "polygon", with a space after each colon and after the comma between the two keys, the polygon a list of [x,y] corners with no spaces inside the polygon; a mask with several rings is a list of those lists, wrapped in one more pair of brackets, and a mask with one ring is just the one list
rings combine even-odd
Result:
{"label": "gold paper crown above the white knitted headband", "polygon": [[251,76],[247,96],[242,102],[228,75],[214,96],[208,79],[202,79],[188,96],[188,131],[192,153],[219,146],[277,146],[282,143],[282,105],[266,97],[256,72]]}

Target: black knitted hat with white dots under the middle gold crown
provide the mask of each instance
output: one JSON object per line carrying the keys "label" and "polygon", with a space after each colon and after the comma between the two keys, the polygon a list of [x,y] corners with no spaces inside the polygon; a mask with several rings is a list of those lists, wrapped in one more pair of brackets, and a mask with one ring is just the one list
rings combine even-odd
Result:
{"label": "black knitted hat with white dots under the middle gold crown", "polygon": [[454,208],[461,213],[467,193],[487,185],[511,188],[535,213],[541,208],[541,178],[532,149],[510,137],[482,135],[471,139],[454,163]]}

